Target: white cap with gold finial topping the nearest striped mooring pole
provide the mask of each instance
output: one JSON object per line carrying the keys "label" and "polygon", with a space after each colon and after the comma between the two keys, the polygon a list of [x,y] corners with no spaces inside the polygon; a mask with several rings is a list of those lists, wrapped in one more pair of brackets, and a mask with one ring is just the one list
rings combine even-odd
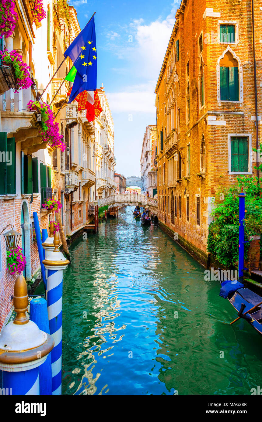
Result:
{"label": "white cap with gold finial topping the nearest striped mooring pole", "polygon": [[54,347],[50,334],[39,330],[26,315],[28,307],[27,284],[24,276],[14,284],[14,321],[0,334],[0,369],[8,372],[27,371],[40,366]]}

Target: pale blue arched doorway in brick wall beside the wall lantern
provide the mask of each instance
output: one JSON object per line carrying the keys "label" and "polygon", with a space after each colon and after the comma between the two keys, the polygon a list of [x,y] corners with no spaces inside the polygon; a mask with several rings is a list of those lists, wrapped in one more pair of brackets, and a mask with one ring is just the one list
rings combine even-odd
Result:
{"label": "pale blue arched doorway in brick wall beside the wall lantern", "polygon": [[21,239],[22,239],[22,251],[25,255],[26,264],[24,270],[24,277],[26,280],[31,279],[31,254],[30,254],[30,218],[28,212],[28,205],[23,202],[21,208]]}

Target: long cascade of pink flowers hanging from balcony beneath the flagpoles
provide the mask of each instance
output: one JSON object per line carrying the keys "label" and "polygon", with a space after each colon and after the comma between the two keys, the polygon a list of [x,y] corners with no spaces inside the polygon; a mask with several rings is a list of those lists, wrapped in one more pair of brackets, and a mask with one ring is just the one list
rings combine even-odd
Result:
{"label": "long cascade of pink flowers hanging from balcony beneath the flagpoles", "polygon": [[41,114],[41,126],[43,141],[48,142],[48,146],[59,148],[61,151],[66,149],[66,145],[61,141],[63,138],[59,133],[58,122],[55,122],[55,116],[47,103],[39,103],[37,101],[30,100],[28,103],[29,110],[33,110],[34,107],[39,109]]}

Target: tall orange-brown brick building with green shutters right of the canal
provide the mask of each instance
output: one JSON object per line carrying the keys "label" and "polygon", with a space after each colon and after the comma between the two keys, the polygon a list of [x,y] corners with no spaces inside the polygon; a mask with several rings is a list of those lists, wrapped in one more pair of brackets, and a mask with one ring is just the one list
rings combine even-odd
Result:
{"label": "tall orange-brown brick building with green shutters right of the canal", "polygon": [[155,89],[159,223],[203,262],[216,189],[256,176],[261,1],[255,51],[252,21],[252,1],[182,0]]}

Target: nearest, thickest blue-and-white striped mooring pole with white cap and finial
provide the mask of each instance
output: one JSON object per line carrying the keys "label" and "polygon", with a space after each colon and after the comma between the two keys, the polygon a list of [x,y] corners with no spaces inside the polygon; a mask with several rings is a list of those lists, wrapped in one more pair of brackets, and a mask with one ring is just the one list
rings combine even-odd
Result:
{"label": "nearest, thickest blue-and-white striped mooring pole with white cap and finial", "polygon": [[39,395],[39,366],[54,347],[51,335],[29,321],[27,307],[27,284],[20,275],[14,284],[14,311],[17,316],[0,335],[0,369],[6,394]]}

